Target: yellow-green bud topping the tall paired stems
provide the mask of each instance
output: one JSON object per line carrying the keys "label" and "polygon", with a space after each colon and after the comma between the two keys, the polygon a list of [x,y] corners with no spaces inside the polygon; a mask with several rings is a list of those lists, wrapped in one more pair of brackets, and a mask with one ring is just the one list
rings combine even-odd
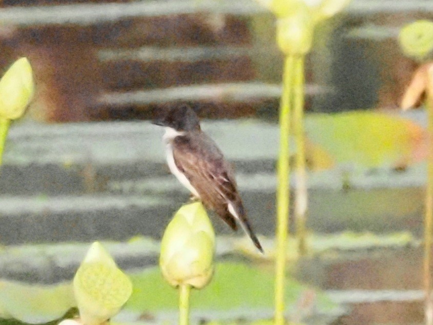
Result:
{"label": "yellow-green bud topping the tall paired stems", "polygon": [[277,44],[285,55],[303,55],[313,45],[314,22],[306,6],[277,21]]}

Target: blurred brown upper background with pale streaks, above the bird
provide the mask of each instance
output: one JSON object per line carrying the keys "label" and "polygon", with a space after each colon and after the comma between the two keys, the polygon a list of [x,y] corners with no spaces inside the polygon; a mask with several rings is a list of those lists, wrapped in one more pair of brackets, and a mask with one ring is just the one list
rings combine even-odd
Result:
{"label": "blurred brown upper background with pale streaks, above the bird", "polygon": [[[306,109],[395,108],[416,66],[398,30],[430,16],[425,0],[354,0],[317,28]],[[0,21],[0,66],[29,57],[37,120],[148,119],[179,100],[202,117],[277,116],[275,19],[253,1],[4,0]]]}

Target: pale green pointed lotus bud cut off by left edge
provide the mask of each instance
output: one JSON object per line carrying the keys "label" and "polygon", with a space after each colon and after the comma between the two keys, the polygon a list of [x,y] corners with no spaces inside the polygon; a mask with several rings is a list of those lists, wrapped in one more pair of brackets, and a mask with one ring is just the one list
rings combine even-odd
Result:
{"label": "pale green pointed lotus bud cut off by left edge", "polygon": [[0,79],[0,118],[21,117],[33,92],[32,67],[27,58],[19,58]]}

